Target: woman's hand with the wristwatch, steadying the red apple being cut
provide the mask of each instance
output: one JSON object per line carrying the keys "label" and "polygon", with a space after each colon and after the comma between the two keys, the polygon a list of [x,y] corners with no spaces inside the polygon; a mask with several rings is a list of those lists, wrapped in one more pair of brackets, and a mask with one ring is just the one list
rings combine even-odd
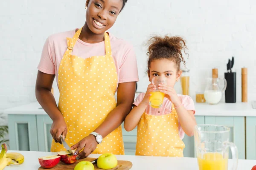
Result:
{"label": "woman's hand with the wristwatch, steadying the red apple being cut", "polygon": [[[82,139],[81,141],[79,141],[78,143],[74,144],[71,149],[75,150],[74,155],[76,156],[76,159],[84,159],[87,156],[89,156],[91,153],[93,153],[93,151],[96,149],[97,147],[97,142],[95,139],[95,136],[93,135],[89,135],[86,136],[84,139]],[[84,148],[83,151],[81,151]],[[80,152],[81,151],[81,152]],[[80,152],[80,153],[79,153]]]}

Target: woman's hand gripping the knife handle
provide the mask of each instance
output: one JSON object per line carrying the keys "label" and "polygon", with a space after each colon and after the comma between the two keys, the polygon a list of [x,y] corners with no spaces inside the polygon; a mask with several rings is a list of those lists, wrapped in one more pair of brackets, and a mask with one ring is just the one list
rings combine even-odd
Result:
{"label": "woman's hand gripping the knife handle", "polygon": [[52,138],[55,140],[55,142],[62,144],[61,142],[61,134],[66,138],[67,135],[67,125],[64,121],[64,118],[59,118],[53,121],[50,133],[52,135]]}

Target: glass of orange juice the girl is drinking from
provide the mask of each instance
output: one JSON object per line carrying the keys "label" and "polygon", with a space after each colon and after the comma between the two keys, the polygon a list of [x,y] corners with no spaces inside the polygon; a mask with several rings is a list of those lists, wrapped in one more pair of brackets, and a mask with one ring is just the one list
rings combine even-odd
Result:
{"label": "glass of orange juice the girl is drinking from", "polygon": [[151,96],[149,98],[149,105],[151,105],[152,108],[160,108],[163,105],[163,98],[164,98],[164,93],[160,92],[158,89],[158,85],[160,83],[165,83],[165,80],[162,79],[160,76],[153,77],[152,83],[156,85],[156,90],[151,92]]}

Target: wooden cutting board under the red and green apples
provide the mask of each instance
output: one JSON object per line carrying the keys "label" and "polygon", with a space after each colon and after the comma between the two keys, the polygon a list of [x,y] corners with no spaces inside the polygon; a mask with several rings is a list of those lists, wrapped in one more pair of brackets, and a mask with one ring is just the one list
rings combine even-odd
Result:
{"label": "wooden cutting board under the red and green apples", "polygon": [[[76,164],[78,164],[78,162],[93,161],[95,159],[96,158],[85,158],[85,159],[78,160],[73,164],[64,164],[60,161],[55,167],[48,169],[48,170],[73,170],[75,168]],[[117,166],[115,168],[109,169],[109,170],[129,170],[129,169],[131,169],[131,167],[132,167],[132,163],[130,161],[118,161]],[[102,170],[102,169],[98,168],[96,164],[94,164],[94,168],[95,168],[95,170]],[[38,170],[47,170],[47,169],[44,169],[43,167],[39,167]]]}

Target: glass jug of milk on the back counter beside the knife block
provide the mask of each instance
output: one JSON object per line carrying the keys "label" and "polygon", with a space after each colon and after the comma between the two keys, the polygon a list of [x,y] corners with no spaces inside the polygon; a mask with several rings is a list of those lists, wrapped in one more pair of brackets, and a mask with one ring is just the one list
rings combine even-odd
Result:
{"label": "glass jug of milk on the back counter beside the knife block", "polygon": [[227,80],[220,78],[207,78],[207,85],[204,91],[204,99],[209,104],[218,104],[222,98],[222,92],[227,88]]}

